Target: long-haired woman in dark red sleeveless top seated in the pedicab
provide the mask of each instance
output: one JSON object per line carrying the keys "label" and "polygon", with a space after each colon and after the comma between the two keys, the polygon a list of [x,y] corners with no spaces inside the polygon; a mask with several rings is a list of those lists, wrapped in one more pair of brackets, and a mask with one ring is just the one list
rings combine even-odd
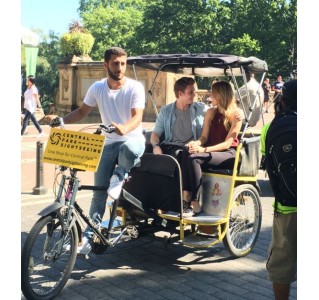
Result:
{"label": "long-haired woman in dark red sleeveless top seated in the pedicab", "polygon": [[188,151],[183,151],[181,169],[185,217],[201,211],[199,205],[201,167],[221,167],[229,160],[233,162],[239,143],[237,136],[242,121],[235,117],[238,107],[229,82],[214,83],[211,98],[213,107],[205,115],[201,137],[186,144]]}

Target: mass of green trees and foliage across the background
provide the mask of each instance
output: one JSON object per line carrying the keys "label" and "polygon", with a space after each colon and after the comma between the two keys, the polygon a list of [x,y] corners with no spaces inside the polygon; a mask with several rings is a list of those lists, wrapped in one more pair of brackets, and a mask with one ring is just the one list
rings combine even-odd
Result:
{"label": "mass of green trees and foliage across the background", "polygon": [[[287,78],[297,65],[297,0],[80,0],[78,12],[84,26],[73,21],[61,39],[52,32],[40,43],[41,101],[54,102],[57,65],[69,63],[66,56],[90,54],[101,61],[111,46],[123,47],[129,55],[257,56],[267,62],[271,81],[278,75]],[[21,51],[21,74],[23,56]],[[209,85],[209,80],[201,82],[201,88]]]}

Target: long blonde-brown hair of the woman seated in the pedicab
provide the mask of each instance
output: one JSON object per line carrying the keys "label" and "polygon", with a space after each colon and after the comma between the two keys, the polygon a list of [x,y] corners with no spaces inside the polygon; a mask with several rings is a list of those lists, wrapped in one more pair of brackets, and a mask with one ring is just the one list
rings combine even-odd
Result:
{"label": "long blonde-brown hair of the woman seated in the pedicab", "polygon": [[225,116],[225,128],[230,129],[230,118],[237,108],[232,86],[228,81],[217,81],[212,85],[212,95],[217,100],[218,111]]}

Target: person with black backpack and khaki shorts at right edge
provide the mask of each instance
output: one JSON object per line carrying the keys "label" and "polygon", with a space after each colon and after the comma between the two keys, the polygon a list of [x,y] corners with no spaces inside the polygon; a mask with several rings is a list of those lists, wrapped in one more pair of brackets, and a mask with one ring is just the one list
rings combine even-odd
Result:
{"label": "person with black backpack and khaki shorts at right edge", "polygon": [[275,111],[273,121],[263,127],[266,138],[261,138],[275,196],[266,267],[275,299],[288,300],[290,285],[297,280],[297,80],[284,84]]}

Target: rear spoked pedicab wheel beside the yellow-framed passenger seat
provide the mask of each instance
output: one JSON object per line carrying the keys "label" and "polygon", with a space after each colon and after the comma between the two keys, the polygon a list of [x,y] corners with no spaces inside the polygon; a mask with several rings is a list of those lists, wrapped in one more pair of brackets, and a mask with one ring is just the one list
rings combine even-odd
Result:
{"label": "rear spoked pedicab wheel beside the yellow-framed passenger seat", "polygon": [[229,223],[223,243],[235,257],[246,256],[253,249],[261,227],[259,194],[251,184],[234,188]]}

